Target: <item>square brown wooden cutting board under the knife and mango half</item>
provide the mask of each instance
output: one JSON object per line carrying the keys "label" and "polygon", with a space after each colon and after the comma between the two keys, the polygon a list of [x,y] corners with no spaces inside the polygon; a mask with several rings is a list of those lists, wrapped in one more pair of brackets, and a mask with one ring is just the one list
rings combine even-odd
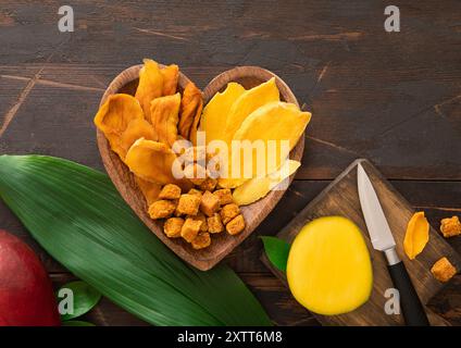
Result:
{"label": "square brown wooden cutting board under the knife and mango half", "polygon": [[[459,254],[448,245],[437,231],[431,227],[429,243],[415,260],[410,261],[403,251],[403,238],[407,223],[414,213],[410,203],[400,196],[399,192],[383,177],[383,175],[366,160],[357,160],[351,163],[331,185],[328,185],[315,199],[313,199],[277,237],[291,243],[301,227],[309,221],[327,215],[341,215],[353,221],[362,231],[373,262],[373,293],[366,303],[359,309],[340,315],[324,316],[313,313],[323,325],[402,325],[402,315],[387,315],[384,311],[384,297],[386,289],[393,287],[387,263],[382,252],[373,249],[366,225],[360,208],[357,189],[357,164],[362,163],[369,174],[376,194],[382,203],[383,210],[389,222],[390,229],[397,243],[397,251],[403,260],[413,285],[420,295],[423,303],[436,295],[444,284],[436,281],[431,274],[431,268],[441,257],[447,257],[456,266],[461,269]],[[265,254],[262,261],[271,271],[286,284],[286,277],[267,260]],[[287,285],[287,284],[286,284]],[[427,310],[427,314],[433,325],[447,325],[441,316]]]}

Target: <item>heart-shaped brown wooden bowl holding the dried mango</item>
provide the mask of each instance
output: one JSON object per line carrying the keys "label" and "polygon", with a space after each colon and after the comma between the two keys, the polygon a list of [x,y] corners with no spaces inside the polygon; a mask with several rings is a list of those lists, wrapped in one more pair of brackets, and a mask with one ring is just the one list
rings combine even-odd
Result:
{"label": "heart-shaped brown wooden bowl holding the dried mango", "polygon": [[[102,105],[107,98],[113,94],[124,92],[135,95],[139,70],[142,65],[135,65],[123,71],[116,76],[109,85],[104,95],[102,96]],[[289,87],[275,74],[267,70],[258,66],[238,66],[226,71],[215,78],[203,89],[203,100],[207,103],[215,92],[225,89],[227,83],[237,82],[245,88],[251,88],[260,85],[270,78],[275,77],[277,87],[281,91],[281,99],[287,102],[295,103],[299,107],[296,97],[289,89]],[[180,73],[178,80],[178,90],[183,92],[184,87],[189,82],[186,75]],[[139,216],[139,219],[160,238],[170,249],[172,249],[178,257],[187,261],[191,265],[199,270],[207,271],[213,268],[220,262],[225,256],[227,256],[235,247],[237,247],[245,238],[247,238],[256,227],[264,220],[265,216],[274,209],[275,204],[285,194],[285,190],[271,191],[263,199],[246,207],[241,207],[241,213],[244,214],[246,228],[237,236],[230,236],[226,232],[212,236],[211,246],[195,250],[189,244],[184,241],[182,238],[167,238],[162,231],[162,223],[151,220],[147,213],[146,200],[136,186],[133,174],[128,167],[121,161],[119,156],[113,152],[109,146],[109,141],[105,139],[102,132],[97,130],[97,139],[99,151],[102,157],[105,170],[111,177],[113,184]],[[290,158],[297,161],[301,160],[302,151],[304,149],[304,137],[301,136],[296,147],[290,152]],[[289,178],[291,183],[294,175]]]}

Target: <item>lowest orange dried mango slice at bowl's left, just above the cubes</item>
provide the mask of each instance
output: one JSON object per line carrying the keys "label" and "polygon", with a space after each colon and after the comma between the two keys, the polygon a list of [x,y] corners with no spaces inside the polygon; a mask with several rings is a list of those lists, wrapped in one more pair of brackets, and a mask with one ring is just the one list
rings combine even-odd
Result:
{"label": "lowest orange dried mango slice at bowl's left, just above the cubes", "polygon": [[140,138],[129,148],[125,163],[141,179],[160,185],[176,184],[183,189],[190,189],[187,179],[177,179],[173,175],[176,154],[163,142]]}

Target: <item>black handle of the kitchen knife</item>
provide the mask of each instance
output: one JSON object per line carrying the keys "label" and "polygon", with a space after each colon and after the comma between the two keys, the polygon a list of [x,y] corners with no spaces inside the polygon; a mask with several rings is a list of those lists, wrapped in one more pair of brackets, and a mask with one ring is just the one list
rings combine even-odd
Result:
{"label": "black handle of the kitchen knife", "polygon": [[400,294],[400,309],[408,326],[429,326],[424,307],[402,261],[388,265],[394,286]]}

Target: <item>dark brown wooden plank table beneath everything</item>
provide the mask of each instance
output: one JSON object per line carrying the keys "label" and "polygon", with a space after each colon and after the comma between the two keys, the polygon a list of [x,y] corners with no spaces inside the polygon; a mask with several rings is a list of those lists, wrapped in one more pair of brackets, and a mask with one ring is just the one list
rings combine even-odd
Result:
{"label": "dark brown wooden plank table beneath everything", "polygon": [[[177,63],[198,86],[235,65],[261,65],[306,102],[302,167],[283,201],[224,262],[275,323],[315,320],[259,260],[274,235],[352,160],[373,161],[434,227],[461,215],[461,2],[391,1],[401,32],[384,30],[376,0],[0,2],[0,153],[43,153],[102,169],[92,117],[109,82],[149,57]],[[73,276],[0,202],[0,227],[30,244],[57,285]],[[461,238],[449,243],[461,252]],[[432,301],[461,324],[461,276]],[[109,300],[100,325],[144,324]]]}

